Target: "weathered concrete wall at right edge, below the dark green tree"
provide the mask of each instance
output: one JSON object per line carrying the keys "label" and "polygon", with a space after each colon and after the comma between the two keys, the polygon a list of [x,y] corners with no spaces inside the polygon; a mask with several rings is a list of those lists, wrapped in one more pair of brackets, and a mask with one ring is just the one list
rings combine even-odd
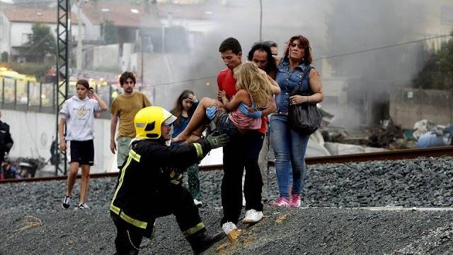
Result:
{"label": "weathered concrete wall at right edge, below the dark green tree", "polygon": [[452,95],[448,90],[415,90],[401,88],[390,97],[390,117],[403,129],[413,129],[420,119],[435,124],[451,124]]}

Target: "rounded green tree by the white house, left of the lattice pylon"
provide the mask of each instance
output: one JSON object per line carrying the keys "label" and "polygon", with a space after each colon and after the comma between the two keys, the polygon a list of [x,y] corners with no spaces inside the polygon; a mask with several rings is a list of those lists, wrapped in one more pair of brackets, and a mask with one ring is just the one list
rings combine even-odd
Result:
{"label": "rounded green tree by the white house, left of the lattice pylon", "polygon": [[21,54],[29,61],[42,63],[47,54],[57,53],[57,42],[48,25],[34,23],[32,34],[28,35],[28,42],[23,45]]}

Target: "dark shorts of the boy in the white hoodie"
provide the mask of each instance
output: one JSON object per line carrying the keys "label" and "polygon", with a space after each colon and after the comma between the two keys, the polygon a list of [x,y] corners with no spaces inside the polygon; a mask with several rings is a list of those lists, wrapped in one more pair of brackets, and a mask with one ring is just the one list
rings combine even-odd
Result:
{"label": "dark shorts of the boy in the white hoodie", "polygon": [[79,162],[80,165],[93,165],[93,140],[67,141],[68,162]]}

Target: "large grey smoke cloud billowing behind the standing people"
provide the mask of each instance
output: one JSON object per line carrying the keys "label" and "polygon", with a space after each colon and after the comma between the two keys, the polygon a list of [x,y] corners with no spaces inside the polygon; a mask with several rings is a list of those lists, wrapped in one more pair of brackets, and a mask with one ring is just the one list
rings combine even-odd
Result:
{"label": "large grey smoke cloud billowing behind the standing people", "polygon": [[[196,37],[186,56],[179,55],[177,58],[180,61],[173,61],[173,68],[168,68],[171,74],[155,82],[158,84],[158,96],[154,97],[157,104],[172,107],[173,101],[185,88],[195,90],[199,98],[214,97],[217,83],[213,77],[224,69],[218,52],[220,42],[226,37],[236,37],[241,42],[245,61],[248,49],[259,40],[259,1],[227,1],[229,4],[226,6],[212,2],[214,4],[200,8],[212,11],[214,29]],[[439,23],[442,3],[445,1],[263,0],[262,39],[277,42],[281,55],[289,37],[297,34],[308,37],[314,66],[325,79],[324,89],[328,90],[328,80],[351,84],[348,89],[350,114],[337,118],[336,124],[369,124],[365,120],[369,114],[377,116],[374,122],[388,118],[379,111],[386,107],[389,93],[398,86],[411,85],[414,74],[425,61],[426,50],[432,45],[432,40],[345,57],[316,59],[438,35],[438,32],[430,34],[427,31],[430,25]],[[210,78],[159,85],[204,77]],[[328,91],[325,93],[327,95]],[[328,99],[321,105],[336,113],[335,107],[329,109]]]}

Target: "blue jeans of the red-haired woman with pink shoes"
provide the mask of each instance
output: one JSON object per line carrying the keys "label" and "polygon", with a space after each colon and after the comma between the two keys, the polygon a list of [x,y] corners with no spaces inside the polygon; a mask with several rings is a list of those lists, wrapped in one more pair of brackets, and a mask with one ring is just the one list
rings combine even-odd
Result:
{"label": "blue jeans of the red-haired woman with pink shoes", "polygon": [[309,137],[289,129],[286,115],[273,114],[270,117],[270,141],[275,153],[275,170],[280,196],[289,198],[288,184],[291,170],[292,194],[302,193],[305,179],[304,158]]}

